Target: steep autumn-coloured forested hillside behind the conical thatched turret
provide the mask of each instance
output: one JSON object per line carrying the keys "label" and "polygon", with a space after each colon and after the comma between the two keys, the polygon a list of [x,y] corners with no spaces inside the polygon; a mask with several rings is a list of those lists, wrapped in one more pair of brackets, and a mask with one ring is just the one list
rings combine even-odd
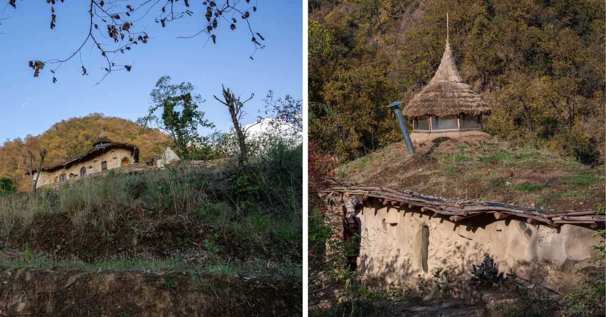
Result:
{"label": "steep autumn-coloured forested hillside behind the conical thatched turret", "polygon": [[309,8],[310,138],[323,152],[348,161],[401,139],[385,106],[431,79],[448,13],[461,76],[492,108],[487,132],[603,161],[604,1],[311,0]]}

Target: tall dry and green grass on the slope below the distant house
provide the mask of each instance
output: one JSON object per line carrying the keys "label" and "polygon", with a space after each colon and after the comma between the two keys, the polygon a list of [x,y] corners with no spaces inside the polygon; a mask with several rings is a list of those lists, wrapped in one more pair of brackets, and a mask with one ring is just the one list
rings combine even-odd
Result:
{"label": "tall dry and green grass on the slope below the distant house", "polygon": [[[230,166],[204,168],[181,164],[132,175],[110,171],[104,177],[82,179],[56,189],[39,189],[36,200],[30,193],[0,196],[0,244],[21,249],[27,242],[21,237],[36,239],[23,235],[33,219],[49,214],[65,215],[75,227],[70,235],[95,232],[99,244],[107,245],[114,245],[124,233],[130,235],[129,238],[135,237],[137,230],[141,232],[141,228],[150,222],[178,216],[185,219],[185,227],[201,226],[208,232],[206,236],[211,236],[205,249],[208,245],[216,245],[215,253],[224,259],[211,261],[213,264],[225,265],[231,261],[233,255],[228,252],[236,246],[238,250],[244,250],[245,261],[262,259],[267,266],[267,259],[270,259],[277,267],[287,262],[298,263],[300,270],[302,147],[276,145],[268,153],[270,156],[255,159],[246,172]],[[131,210],[145,210],[145,216],[130,218],[135,214]],[[202,241],[197,242],[201,244]],[[175,243],[192,245],[188,236]],[[67,245],[61,245],[62,254],[68,250]],[[41,251],[50,254],[54,250]],[[135,260],[101,261],[92,265],[105,265],[108,269],[112,265],[117,265],[116,269],[181,265],[170,259],[151,263]],[[80,262],[46,262],[48,265],[84,265]],[[39,264],[47,265],[46,262]]]}

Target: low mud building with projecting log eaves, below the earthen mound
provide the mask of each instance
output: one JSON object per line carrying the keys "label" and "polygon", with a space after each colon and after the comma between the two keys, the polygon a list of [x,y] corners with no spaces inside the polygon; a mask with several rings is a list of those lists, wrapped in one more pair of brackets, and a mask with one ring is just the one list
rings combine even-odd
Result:
{"label": "low mud building with projecting log eaves, below the earthen mound", "polygon": [[578,269],[593,265],[595,229],[604,227],[595,210],[545,213],[353,185],[331,193],[343,208],[345,238],[348,227],[361,236],[357,269],[384,286],[415,285],[448,269],[464,289],[471,265],[489,253],[507,276],[541,273],[546,287],[563,292],[578,281]]}

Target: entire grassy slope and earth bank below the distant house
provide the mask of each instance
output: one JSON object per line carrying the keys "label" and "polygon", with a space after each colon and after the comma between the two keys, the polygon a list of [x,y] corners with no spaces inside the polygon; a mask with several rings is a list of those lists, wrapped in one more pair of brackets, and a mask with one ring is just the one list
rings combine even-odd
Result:
{"label": "entire grassy slope and earth bank below the distant house", "polygon": [[300,314],[302,149],[271,153],[0,196],[0,313]]}

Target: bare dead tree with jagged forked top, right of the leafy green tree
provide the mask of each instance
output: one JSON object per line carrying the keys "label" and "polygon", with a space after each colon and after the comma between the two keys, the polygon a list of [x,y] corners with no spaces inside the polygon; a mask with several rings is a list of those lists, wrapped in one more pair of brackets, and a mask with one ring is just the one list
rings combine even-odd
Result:
{"label": "bare dead tree with jagged forked top, right of the leafy green tree", "polygon": [[238,136],[238,146],[240,148],[240,154],[238,157],[238,167],[240,167],[240,169],[247,169],[248,149],[246,146],[246,132],[250,127],[252,127],[252,125],[250,125],[248,128],[242,127],[242,117],[246,115],[246,113],[242,111],[242,108],[244,107],[244,104],[247,101],[253,99],[253,96],[255,96],[255,94],[251,94],[250,98],[246,99],[245,101],[240,101],[240,97],[236,97],[234,93],[230,91],[229,88],[225,89],[224,85],[221,85],[221,88],[223,89],[224,100],[219,99],[215,95],[213,95],[213,97],[215,97],[217,101],[224,104],[227,107],[227,110],[229,110],[231,122],[233,123],[233,128],[236,131],[236,136]]}

